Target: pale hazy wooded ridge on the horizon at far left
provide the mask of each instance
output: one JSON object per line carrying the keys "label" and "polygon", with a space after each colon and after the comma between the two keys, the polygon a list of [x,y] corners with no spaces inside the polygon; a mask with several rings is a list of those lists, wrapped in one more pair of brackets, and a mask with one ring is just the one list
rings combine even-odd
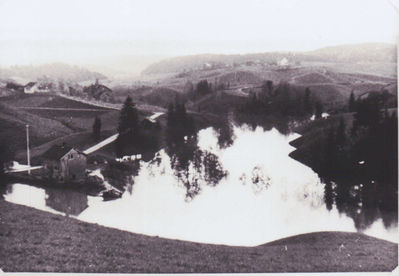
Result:
{"label": "pale hazy wooded ridge on the horizon at far left", "polygon": [[40,79],[82,82],[105,78],[103,74],[65,63],[0,68],[0,79],[11,79],[20,84],[26,84],[29,81],[37,81]]}

